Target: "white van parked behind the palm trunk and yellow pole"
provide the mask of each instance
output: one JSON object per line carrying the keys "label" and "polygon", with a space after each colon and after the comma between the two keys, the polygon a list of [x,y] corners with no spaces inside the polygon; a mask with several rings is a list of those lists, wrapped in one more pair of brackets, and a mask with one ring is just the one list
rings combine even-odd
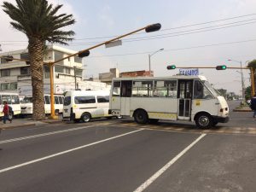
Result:
{"label": "white van parked behind the palm trunk and yellow pole", "polygon": [[[64,96],[55,95],[55,114],[63,112]],[[44,95],[45,114],[50,113],[50,95]],[[25,96],[21,102],[21,115],[33,113],[32,96]]]}

